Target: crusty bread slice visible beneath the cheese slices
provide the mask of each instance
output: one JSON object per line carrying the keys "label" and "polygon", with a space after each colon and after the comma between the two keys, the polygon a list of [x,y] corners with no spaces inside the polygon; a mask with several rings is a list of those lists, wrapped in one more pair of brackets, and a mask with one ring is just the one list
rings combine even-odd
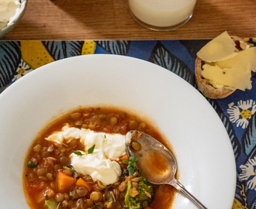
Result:
{"label": "crusty bread slice visible beneath the cheese slices", "polygon": [[[242,41],[245,45],[250,45],[249,43],[245,42],[244,39],[241,39],[237,36],[230,36],[234,42],[236,43],[237,50],[242,50],[240,47],[240,41]],[[201,60],[199,57],[196,57],[195,59],[195,81],[197,86],[199,87],[199,91],[202,92],[202,94],[206,98],[227,98],[230,94],[234,93],[236,91],[233,87],[221,87],[221,88],[215,88],[212,84],[209,83],[209,80],[202,77],[202,65],[205,63],[205,61]]]}

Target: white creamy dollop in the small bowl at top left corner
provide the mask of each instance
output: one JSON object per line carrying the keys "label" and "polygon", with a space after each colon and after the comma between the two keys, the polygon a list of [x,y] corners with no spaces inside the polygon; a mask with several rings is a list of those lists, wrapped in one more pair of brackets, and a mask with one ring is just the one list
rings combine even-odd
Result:
{"label": "white creamy dollop in the small bowl at top left corner", "polygon": [[0,0],[0,29],[10,25],[19,15],[20,2]]}

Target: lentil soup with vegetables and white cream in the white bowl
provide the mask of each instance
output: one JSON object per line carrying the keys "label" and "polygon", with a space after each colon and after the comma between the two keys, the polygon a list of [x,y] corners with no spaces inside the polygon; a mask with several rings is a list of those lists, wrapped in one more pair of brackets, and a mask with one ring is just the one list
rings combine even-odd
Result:
{"label": "lentil soup with vegetables and white cream in the white bowl", "polygon": [[147,182],[134,168],[137,159],[129,159],[119,144],[130,130],[168,146],[150,122],[119,108],[77,108],[47,125],[25,159],[23,188],[29,207],[171,208],[173,187]]}

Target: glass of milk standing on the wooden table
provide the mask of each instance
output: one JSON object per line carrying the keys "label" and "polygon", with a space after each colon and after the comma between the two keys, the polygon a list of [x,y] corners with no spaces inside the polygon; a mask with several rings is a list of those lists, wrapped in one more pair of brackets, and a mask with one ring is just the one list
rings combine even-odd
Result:
{"label": "glass of milk standing on the wooden table", "polygon": [[129,0],[130,12],[141,25],[171,30],[188,22],[196,0]]}

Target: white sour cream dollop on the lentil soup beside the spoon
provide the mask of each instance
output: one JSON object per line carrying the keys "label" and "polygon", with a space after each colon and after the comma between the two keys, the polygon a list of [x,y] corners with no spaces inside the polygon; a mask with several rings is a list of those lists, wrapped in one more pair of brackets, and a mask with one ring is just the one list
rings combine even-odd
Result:
{"label": "white sour cream dollop on the lentil soup beside the spoon", "polygon": [[[78,173],[92,176],[92,180],[100,180],[104,185],[115,183],[119,180],[122,171],[119,163],[111,159],[118,159],[126,154],[125,135],[106,134],[105,132],[93,132],[85,128],[70,128],[65,125],[61,132],[54,132],[47,140],[57,142],[69,142],[72,139],[80,139],[85,144],[84,155],[71,154],[71,165]],[[85,151],[95,145],[94,152],[87,154]]]}

